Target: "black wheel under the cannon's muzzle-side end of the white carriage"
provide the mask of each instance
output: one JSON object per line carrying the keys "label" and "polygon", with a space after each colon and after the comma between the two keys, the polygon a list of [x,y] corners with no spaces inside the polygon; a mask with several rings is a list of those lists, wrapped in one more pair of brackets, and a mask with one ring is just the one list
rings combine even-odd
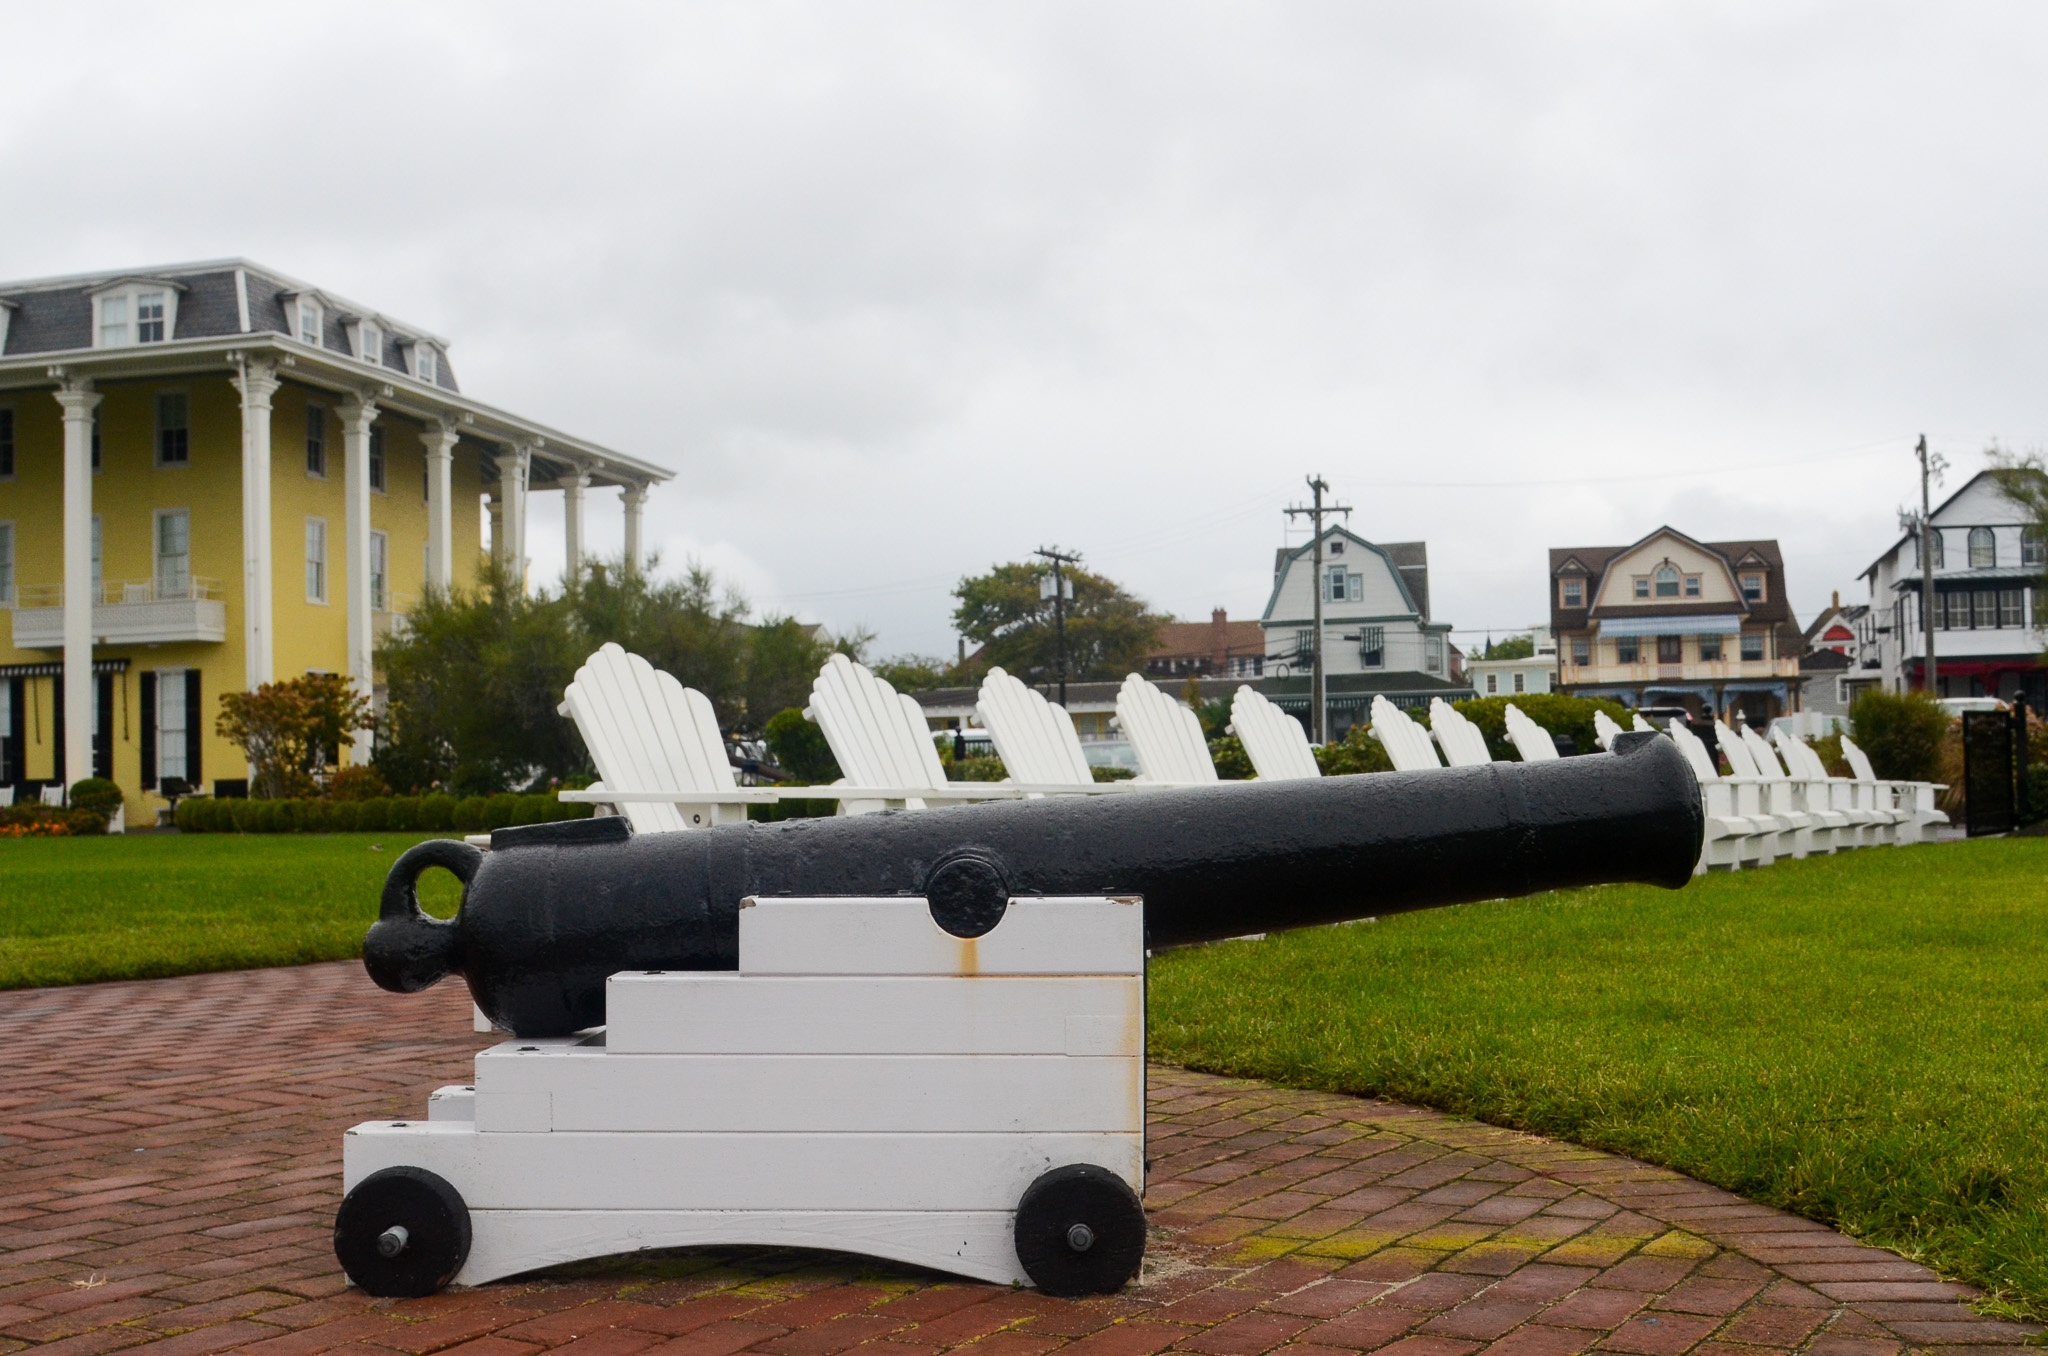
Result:
{"label": "black wheel under the cannon's muzzle-side end of the white carriage", "polygon": [[1016,1239],[1047,1295],[1112,1295],[1145,1260],[1145,1204],[1108,1168],[1069,1163],[1024,1188]]}

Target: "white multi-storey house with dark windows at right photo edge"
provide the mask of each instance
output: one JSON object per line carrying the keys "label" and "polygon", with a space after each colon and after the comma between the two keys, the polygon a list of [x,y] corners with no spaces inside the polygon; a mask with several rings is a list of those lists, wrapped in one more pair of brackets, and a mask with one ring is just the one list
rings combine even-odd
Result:
{"label": "white multi-storey house with dark windows at right photo edge", "polygon": [[[1923,686],[1927,660],[1921,625],[1919,543],[1905,535],[1870,563],[1870,610],[1860,619],[1858,655],[1876,658],[1892,692]],[[2021,692],[2048,705],[2042,666],[2040,578],[2048,543],[2025,512],[1978,471],[1933,510],[1935,694],[2001,696]]]}

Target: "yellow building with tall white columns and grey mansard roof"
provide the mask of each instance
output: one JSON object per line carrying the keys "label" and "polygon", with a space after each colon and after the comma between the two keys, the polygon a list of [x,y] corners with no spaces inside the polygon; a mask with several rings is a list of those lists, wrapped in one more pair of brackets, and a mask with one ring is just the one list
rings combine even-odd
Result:
{"label": "yellow building with tall white columns and grey mansard roof", "polygon": [[109,776],[131,823],[178,785],[238,795],[223,692],[336,672],[375,696],[377,641],[475,578],[485,520],[524,576],[528,496],[561,490],[573,567],[586,492],[614,485],[639,559],[668,477],[246,260],[0,285],[0,787]]}

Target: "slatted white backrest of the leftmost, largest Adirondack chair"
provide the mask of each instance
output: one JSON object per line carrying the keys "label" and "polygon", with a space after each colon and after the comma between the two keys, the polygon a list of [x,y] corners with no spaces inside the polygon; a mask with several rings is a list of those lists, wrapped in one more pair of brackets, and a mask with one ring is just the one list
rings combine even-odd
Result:
{"label": "slatted white backrest of the leftmost, largest Adirondack chair", "polygon": [[[637,653],[604,643],[575,670],[563,711],[614,791],[729,791],[737,787],[711,698]],[[621,805],[639,834],[688,828],[682,809]]]}

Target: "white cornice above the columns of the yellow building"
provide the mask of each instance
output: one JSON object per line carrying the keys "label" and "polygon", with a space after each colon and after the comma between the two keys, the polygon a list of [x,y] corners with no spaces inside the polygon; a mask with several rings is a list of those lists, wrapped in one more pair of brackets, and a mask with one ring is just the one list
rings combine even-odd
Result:
{"label": "white cornice above the columns of the yellow building", "polygon": [[270,358],[279,365],[279,375],[301,385],[319,387],[338,395],[352,395],[362,389],[365,377],[375,377],[389,397],[379,397],[379,408],[416,418],[446,420],[459,424],[465,434],[487,442],[535,444],[549,453],[582,457],[592,463],[594,479],[610,485],[643,485],[668,481],[676,473],[651,461],[614,453],[608,447],[578,438],[547,424],[520,418],[459,391],[430,387],[397,369],[371,373],[365,365],[344,352],[313,348],[291,336],[264,330],[256,334],[219,334],[195,340],[166,340],[162,344],[129,344],[125,348],[66,348],[53,352],[18,354],[0,358],[0,389],[47,389],[51,369],[63,369],[74,377],[98,381],[176,377],[190,373],[233,373],[236,358]]}

